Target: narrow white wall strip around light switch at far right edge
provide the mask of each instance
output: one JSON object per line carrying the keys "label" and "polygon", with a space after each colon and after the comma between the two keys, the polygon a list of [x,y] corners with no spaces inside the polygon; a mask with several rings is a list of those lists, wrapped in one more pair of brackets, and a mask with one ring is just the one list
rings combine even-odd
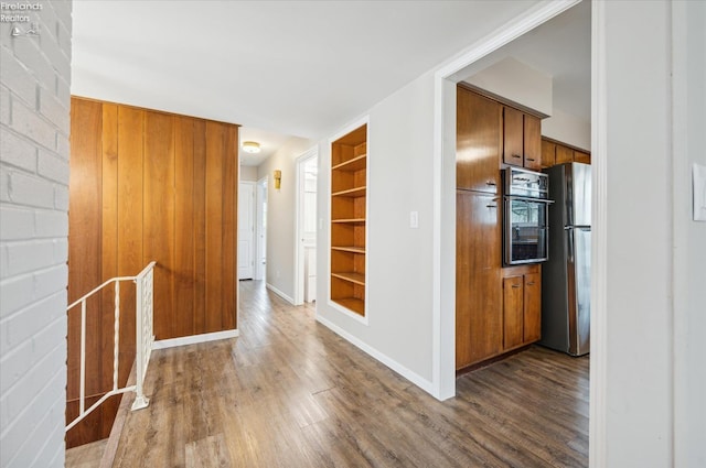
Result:
{"label": "narrow white wall strip around light switch at far right edge", "polygon": [[706,466],[706,222],[692,220],[692,164],[706,166],[706,2],[673,10],[675,460]]}

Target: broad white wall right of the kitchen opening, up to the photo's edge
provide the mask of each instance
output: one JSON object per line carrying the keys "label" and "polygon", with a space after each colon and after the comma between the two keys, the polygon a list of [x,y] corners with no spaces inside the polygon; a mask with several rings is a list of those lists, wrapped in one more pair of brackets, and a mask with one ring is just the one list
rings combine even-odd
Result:
{"label": "broad white wall right of the kitchen opening, up to the photo's edge", "polygon": [[591,399],[605,404],[605,432],[591,440],[603,460],[591,464],[702,467],[706,229],[688,211],[689,164],[704,162],[706,15],[700,2],[601,2],[601,10],[606,330],[605,357],[591,363],[605,364],[605,380]]}

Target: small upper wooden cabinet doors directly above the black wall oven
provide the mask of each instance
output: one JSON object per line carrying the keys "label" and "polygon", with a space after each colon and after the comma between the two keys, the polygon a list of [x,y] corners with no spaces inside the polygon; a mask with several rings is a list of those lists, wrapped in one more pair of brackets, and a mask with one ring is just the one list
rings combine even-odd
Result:
{"label": "small upper wooden cabinet doors directly above the black wall oven", "polygon": [[542,164],[539,118],[503,107],[503,163],[532,170]]}

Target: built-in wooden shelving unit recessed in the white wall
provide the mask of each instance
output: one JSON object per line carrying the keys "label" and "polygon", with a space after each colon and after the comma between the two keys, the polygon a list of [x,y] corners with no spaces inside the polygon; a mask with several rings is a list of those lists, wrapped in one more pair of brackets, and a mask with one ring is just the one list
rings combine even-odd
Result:
{"label": "built-in wooden shelving unit recessed in the white wall", "polygon": [[365,317],[367,124],[331,143],[331,301]]}

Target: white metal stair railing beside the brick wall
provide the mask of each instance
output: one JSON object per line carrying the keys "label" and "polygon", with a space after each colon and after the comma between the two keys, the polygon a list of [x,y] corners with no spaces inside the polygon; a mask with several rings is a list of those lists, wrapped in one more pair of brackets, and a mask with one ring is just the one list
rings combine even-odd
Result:
{"label": "white metal stair railing beside the brick wall", "polygon": [[[118,395],[126,392],[135,392],[135,402],[132,403],[132,410],[140,410],[149,405],[149,399],[145,396],[143,383],[145,376],[147,374],[147,366],[150,361],[150,355],[152,352],[152,342],[154,341],[153,335],[153,311],[152,311],[152,285],[153,285],[153,271],[157,262],[151,262],[145,270],[137,274],[137,276],[118,276],[110,279],[96,287],[78,301],[71,304],[66,311],[81,304],[81,387],[79,387],[79,400],[78,400],[78,416],[66,426],[66,432],[78,424],[84,417],[86,417],[92,411],[100,406],[103,402],[108,400],[113,395]],[[120,347],[120,282],[132,281],[136,283],[137,292],[135,295],[135,328],[136,328],[136,383],[135,385],[128,385],[118,388],[118,360],[119,360],[119,347]],[[115,339],[113,346],[113,390],[103,395],[100,400],[95,402],[90,407],[86,410],[86,301],[101,291],[104,287],[115,283]]]}

